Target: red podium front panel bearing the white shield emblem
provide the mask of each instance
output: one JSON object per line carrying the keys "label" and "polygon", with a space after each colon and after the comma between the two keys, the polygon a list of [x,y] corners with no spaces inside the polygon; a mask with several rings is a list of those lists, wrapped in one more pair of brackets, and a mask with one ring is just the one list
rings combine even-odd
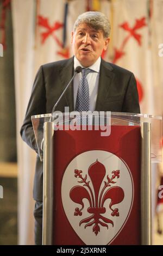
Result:
{"label": "red podium front panel bearing the white shield emblem", "polygon": [[54,245],[140,245],[140,127],[54,132]]}

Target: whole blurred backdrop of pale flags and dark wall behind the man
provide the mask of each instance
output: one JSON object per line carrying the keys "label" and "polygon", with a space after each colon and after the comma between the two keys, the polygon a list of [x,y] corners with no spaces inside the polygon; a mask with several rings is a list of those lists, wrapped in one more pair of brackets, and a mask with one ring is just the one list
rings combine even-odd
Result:
{"label": "whole blurred backdrop of pale flags and dark wall behind the man", "polygon": [[[102,57],[134,72],[141,113],[162,115],[162,0],[1,0],[0,43],[4,51],[0,57],[0,185],[4,184],[4,198],[0,199],[0,244],[34,243],[35,153],[22,142],[19,131],[36,71],[42,64],[72,56],[73,23],[88,10],[108,16],[111,41]],[[153,164],[152,177],[155,215],[155,191],[160,179],[157,164]],[[159,212],[156,216],[161,226]],[[11,233],[12,241],[6,238]]]}

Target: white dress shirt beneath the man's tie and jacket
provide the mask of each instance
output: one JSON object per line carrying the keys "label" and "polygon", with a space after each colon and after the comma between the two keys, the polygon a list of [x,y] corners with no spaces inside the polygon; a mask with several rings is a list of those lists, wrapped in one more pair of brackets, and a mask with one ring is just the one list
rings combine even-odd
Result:
{"label": "white dress shirt beneath the man's tie and jacket", "polygon": [[[101,57],[99,57],[92,66],[88,67],[89,69],[92,69],[95,72],[91,72],[86,76],[87,82],[89,84],[90,111],[95,111],[95,107],[96,107],[100,65],[101,65]],[[78,59],[74,57],[74,69],[76,69],[77,66],[81,66],[82,68],[85,68],[79,63]],[[82,72],[77,74],[73,80],[74,109],[76,107],[78,87],[79,87],[81,78],[82,78]]]}

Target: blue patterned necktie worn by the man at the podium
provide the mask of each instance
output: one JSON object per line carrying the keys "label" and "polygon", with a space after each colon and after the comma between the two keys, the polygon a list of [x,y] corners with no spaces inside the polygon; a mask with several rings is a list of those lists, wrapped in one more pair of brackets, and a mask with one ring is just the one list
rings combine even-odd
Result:
{"label": "blue patterned necktie worn by the man at the podium", "polygon": [[89,94],[89,84],[87,82],[86,76],[90,72],[95,72],[91,69],[82,69],[82,79],[80,80],[77,101],[76,101],[76,111],[89,111],[90,110],[90,94]]}

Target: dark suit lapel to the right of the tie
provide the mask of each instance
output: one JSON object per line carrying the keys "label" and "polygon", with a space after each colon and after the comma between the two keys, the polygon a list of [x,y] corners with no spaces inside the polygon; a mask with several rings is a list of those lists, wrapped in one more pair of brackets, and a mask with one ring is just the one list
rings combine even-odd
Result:
{"label": "dark suit lapel to the right of the tie", "polygon": [[112,66],[109,63],[106,63],[103,59],[101,60],[101,68],[99,74],[99,84],[98,84],[98,94],[96,101],[96,111],[101,110],[101,105],[104,105],[104,102],[107,99],[109,94],[109,89],[111,87],[112,80],[115,74],[112,72]]}

